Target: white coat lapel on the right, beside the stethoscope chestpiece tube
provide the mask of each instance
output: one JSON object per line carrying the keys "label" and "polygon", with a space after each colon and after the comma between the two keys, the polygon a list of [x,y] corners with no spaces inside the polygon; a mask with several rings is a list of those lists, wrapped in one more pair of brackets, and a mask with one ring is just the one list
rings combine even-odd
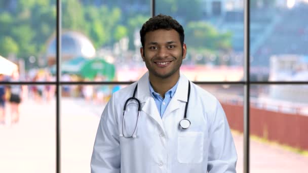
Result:
{"label": "white coat lapel on the right, beside the stethoscope chestpiece tube", "polygon": [[188,79],[181,73],[177,89],[165,110],[164,116],[168,116],[172,111],[180,108],[180,102],[187,102],[187,93]]}

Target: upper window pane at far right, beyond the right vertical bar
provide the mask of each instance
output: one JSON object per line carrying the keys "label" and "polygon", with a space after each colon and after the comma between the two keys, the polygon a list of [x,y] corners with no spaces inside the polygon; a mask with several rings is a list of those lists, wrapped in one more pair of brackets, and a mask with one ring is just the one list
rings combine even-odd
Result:
{"label": "upper window pane at far right, beyond the right vertical bar", "polygon": [[[250,7],[251,79],[307,81],[307,1],[254,1]],[[286,24],[288,23],[288,24]]]}

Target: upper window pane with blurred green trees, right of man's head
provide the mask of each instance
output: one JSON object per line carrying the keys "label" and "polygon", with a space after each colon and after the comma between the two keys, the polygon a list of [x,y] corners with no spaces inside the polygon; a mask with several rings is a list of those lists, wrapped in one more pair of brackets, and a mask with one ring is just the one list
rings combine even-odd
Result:
{"label": "upper window pane with blurred green trees, right of man's head", "polygon": [[181,70],[195,81],[243,80],[243,1],[156,1],[156,14],[184,28],[187,55]]}

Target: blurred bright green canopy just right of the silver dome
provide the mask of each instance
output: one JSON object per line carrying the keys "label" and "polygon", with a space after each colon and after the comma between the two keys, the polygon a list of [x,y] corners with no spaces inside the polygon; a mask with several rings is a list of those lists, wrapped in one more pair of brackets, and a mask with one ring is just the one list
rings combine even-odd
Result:
{"label": "blurred bright green canopy just right of the silver dome", "polygon": [[113,80],[115,76],[115,66],[101,58],[89,59],[83,64],[79,70],[79,74],[90,80],[93,80],[96,75],[105,76],[106,80]]}

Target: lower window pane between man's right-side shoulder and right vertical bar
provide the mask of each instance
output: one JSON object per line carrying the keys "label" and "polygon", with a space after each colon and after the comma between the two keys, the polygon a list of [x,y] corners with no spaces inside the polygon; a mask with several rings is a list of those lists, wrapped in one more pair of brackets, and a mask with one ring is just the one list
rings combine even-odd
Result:
{"label": "lower window pane between man's right-side shoulder and right vertical bar", "polygon": [[232,131],[238,162],[237,172],[243,172],[243,85],[209,85],[199,84],[201,88],[214,95],[220,102]]}

